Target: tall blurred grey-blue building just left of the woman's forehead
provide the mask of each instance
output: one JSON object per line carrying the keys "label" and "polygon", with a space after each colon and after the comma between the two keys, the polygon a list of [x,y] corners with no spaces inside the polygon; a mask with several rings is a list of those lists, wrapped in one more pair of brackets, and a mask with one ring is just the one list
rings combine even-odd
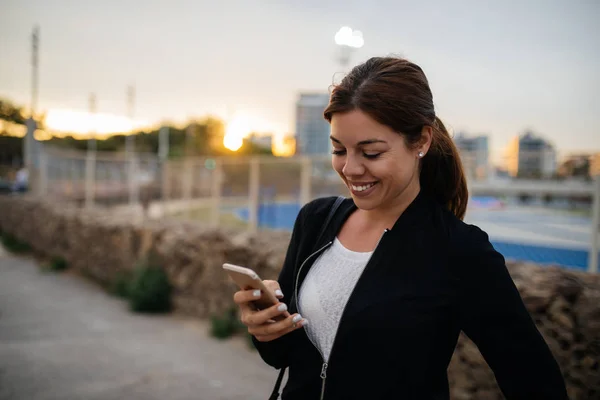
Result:
{"label": "tall blurred grey-blue building just left of the woman's forehead", "polygon": [[323,111],[329,104],[327,93],[301,93],[296,101],[296,152],[301,155],[331,153],[329,123]]}

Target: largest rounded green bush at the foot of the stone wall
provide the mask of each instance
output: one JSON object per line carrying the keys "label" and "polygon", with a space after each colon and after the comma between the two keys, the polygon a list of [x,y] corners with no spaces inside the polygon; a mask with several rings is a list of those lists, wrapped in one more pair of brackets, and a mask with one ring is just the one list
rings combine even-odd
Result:
{"label": "largest rounded green bush at the foot of the stone wall", "polygon": [[148,261],[135,268],[126,290],[131,310],[143,313],[171,311],[171,291],[165,270]]}

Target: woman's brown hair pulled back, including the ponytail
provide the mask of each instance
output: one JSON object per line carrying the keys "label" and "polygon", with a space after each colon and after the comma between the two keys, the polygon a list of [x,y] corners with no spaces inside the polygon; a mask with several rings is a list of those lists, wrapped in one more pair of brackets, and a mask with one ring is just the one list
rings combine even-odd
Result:
{"label": "woman's brown hair pulled back, including the ponytail", "polygon": [[435,115],[425,73],[416,64],[394,57],[373,57],[352,69],[331,92],[325,119],[359,109],[404,137],[409,147],[422,141],[424,126],[432,128],[429,151],[421,159],[421,190],[463,219],[468,201],[467,181],[458,150]]}

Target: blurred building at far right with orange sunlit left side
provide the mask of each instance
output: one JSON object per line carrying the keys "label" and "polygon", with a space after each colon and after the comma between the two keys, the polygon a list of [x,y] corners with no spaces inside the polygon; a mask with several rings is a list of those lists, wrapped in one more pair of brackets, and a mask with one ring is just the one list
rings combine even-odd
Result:
{"label": "blurred building at far right with orange sunlit left side", "polygon": [[530,131],[511,140],[506,162],[512,177],[551,178],[557,170],[554,146]]}

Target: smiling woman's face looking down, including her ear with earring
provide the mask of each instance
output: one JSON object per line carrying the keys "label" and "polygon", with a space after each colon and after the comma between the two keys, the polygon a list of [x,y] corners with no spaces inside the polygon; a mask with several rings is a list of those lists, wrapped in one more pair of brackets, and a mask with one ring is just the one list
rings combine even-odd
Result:
{"label": "smiling woman's face looking down, including her ear with earring", "polygon": [[419,152],[429,149],[430,135],[410,149],[400,134],[353,110],[332,116],[331,140],[333,168],[358,208],[393,208],[419,192]]}

